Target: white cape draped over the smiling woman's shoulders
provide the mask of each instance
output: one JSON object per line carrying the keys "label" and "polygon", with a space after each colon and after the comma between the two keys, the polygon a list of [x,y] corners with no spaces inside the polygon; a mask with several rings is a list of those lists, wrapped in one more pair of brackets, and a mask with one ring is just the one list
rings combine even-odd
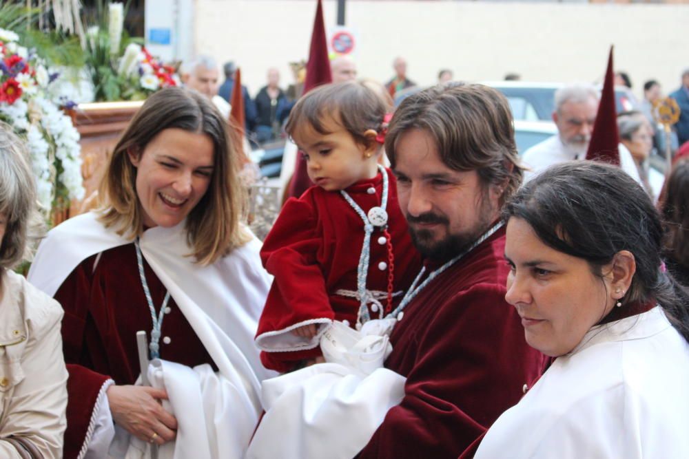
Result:
{"label": "white cape draped over the smiling woman's shoulders", "polygon": [[[32,284],[54,296],[81,261],[131,243],[105,229],[96,216],[93,212],[79,215],[48,233],[29,272]],[[195,264],[188,256],[192,249],[187,245],[184,224],[145,231],[140,238],[141,252],[216,363],[223,380],[234,387],[228,405],[232,411],[222,415],[238,420],[233,438],[237,449],[243,450],[261,412],[260,381],[274,374],[263,368],[254,345],[271,278],[260,264],[260,242],[256,238],[212,265]],[[126,268],[136,269],[136,263],[132,260]]]}

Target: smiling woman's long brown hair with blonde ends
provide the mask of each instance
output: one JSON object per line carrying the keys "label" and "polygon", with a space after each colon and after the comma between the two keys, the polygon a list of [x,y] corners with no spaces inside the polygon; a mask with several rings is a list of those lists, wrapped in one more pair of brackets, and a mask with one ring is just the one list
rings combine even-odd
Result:
{"label": "smiling woman's long brown hair with blonde ends", "polygon": [[196,91],[169,87],[150,96],[136,112],[115,146],[101,183],[104,200],[99,220],[106,228],[134,239],[143,232],[141,204],[136,195],[136,167],[128,152],[141,155],[165,129],[207,135],[213,142],[213,175],[203,198],[187,215],[190,255],[202,265],[212,264],[251,235],[240,224],[246,191],[238,179],[238,153],[227,132],[227,122],[211,101]]}

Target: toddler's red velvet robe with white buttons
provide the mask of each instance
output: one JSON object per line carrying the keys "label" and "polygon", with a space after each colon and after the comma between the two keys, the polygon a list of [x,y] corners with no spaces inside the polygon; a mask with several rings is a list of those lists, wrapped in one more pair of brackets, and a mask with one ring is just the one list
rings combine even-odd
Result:
{"label": "toddler's red velvet robe with white buttons", "polygon": [[[414,248],[407,221],[397,200],[394,176],[387,171],[389,191],[387,201],[388,231],[394,253],[393,291],[406,291],[420,268],[420,255]],[[373,187],[376,193],[368,193]],[[380,206],[382,175],[349,186],[347,193],[367,213]],[[371,235],[368,290],[387,290],[388,270],[378,264],[388,263],[387,246],[380,244],[383,235],[376,228]],[[312,186],[301,198],[290,199],[263,242],[260,255],[263,266],[275,276],[258,333],[283,330],[309,319],[347,320],[356,324],[359,301],[335,295],[339,289],[356,292],[356,273],[364,242],[364,223],[339,192],[325,191]],[[402,296],[393,299],[393,305]],[[381,300],[383,306],[387,300]],[[393,306],[393,307],[394,307]],[[378,317],[372,312],[371,318]],[[281,372],[289,371],[296,361],[320,355],[320,348],[296,352],[261,352],[265,367]]]}

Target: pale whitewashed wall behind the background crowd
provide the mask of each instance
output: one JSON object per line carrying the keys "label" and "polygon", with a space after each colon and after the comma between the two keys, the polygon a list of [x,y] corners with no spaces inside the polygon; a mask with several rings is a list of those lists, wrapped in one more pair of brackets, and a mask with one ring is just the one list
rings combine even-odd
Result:
{"label": "pale whitewashed wall behind the background crowd", "polygon": [[[195,1],[196,52],[219,65],[236,61],[252,96],[268,67],[278,67],[287,86],[287,63],[307,58],[316,0]],[[323,6],[332,27],[337,1]],[[347,1],[360,76],[385,81],[402,55],[420,84],[434,83],[442,67],[466,81],[500,80],[507,72],[530,81],[595,81],[614,43],[615,69],[628,72],[637,95],[648,78],[670,92],[689,67],[688,24],[688,5]]]}

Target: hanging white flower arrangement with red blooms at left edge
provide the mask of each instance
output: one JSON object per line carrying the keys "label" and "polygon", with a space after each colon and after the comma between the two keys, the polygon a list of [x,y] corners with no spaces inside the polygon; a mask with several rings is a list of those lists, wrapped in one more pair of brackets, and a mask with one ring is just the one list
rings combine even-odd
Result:
{"label": "hanging white flower arrangement with red blooms at left edge", "polygon": [[56,78],[17,34],[0,29],[0,120],[27,141],[45,215],[84,195],[79,132],[60,108],[70,103],[50,90]]}

